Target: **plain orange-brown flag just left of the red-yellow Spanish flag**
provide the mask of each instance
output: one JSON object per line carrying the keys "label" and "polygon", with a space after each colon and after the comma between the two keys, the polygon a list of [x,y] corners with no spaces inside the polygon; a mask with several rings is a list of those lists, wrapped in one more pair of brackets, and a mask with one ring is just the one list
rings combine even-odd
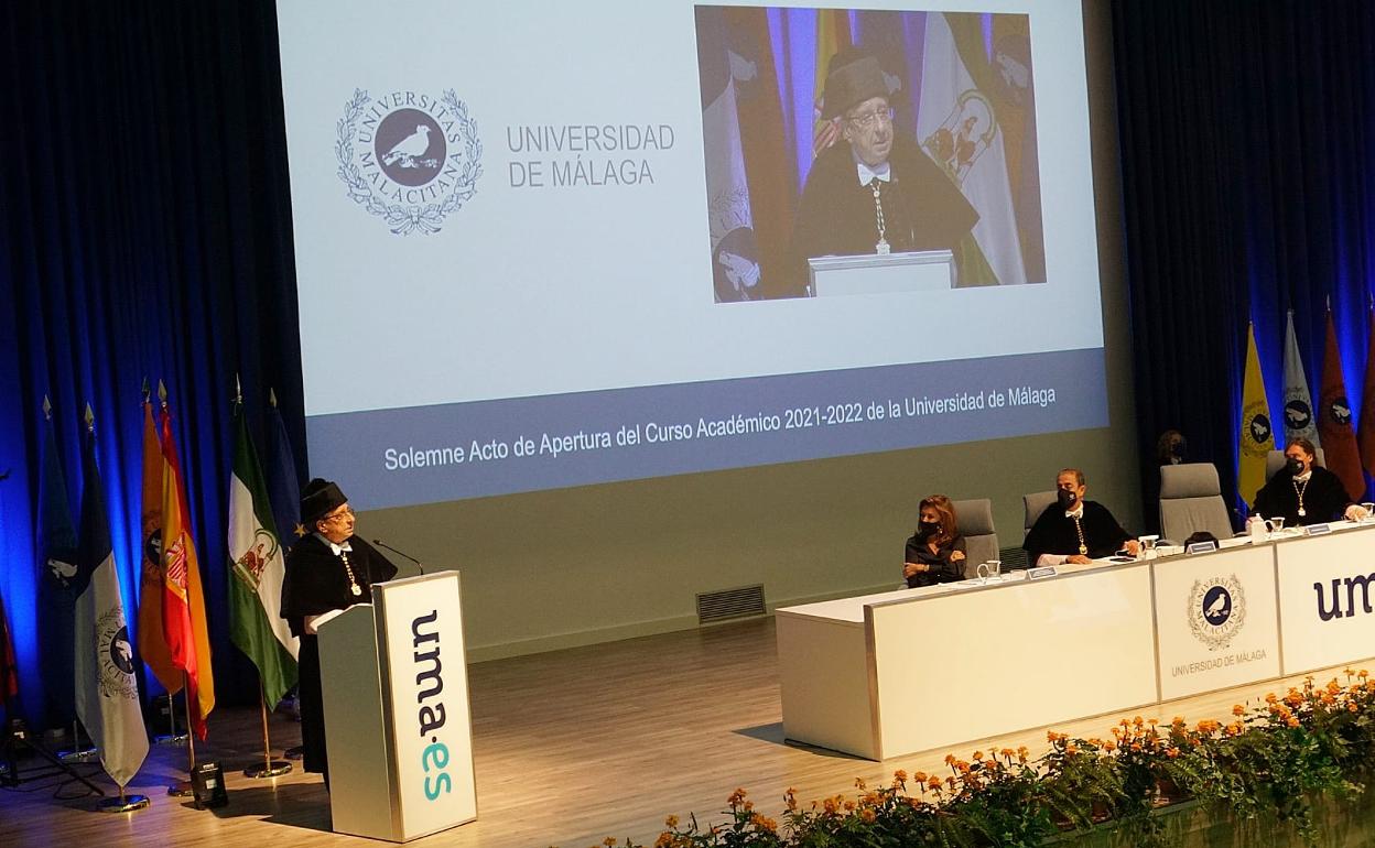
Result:
{"label": "plain orange-brown flag just left of the red-yellow Spanish flag", "polygon": [[[161,383],[158,383],[161,390]],[[146,392],[146,390],[144,390]],[[182,669],[172,662],[162,632],[162,447],[153,426],[153,403],[143,400],[143,509],[139,515],[143,565],[139,569],[139,656],[162,689],[182,691]]]}

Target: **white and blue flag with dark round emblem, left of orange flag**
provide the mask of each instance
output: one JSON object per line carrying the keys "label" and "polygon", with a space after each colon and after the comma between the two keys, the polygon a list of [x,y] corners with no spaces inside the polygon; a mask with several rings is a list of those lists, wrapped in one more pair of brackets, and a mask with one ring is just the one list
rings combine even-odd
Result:
{"label": "white and blue flag with dark round emblem, left of orange flag", "polygon": [[[91,410],[87,407],[87,421]],[[89,425],[88,425],[89,426]],[[133,678],[133,645],[124,618],[120,576],[110,546],[110,522],[95,465],[95,436],[81,451],[81,542],[72,587],[76,603],[77,716],[100,749],[100,766],[120,786],[128,785],[148,756],[148,733]]]}

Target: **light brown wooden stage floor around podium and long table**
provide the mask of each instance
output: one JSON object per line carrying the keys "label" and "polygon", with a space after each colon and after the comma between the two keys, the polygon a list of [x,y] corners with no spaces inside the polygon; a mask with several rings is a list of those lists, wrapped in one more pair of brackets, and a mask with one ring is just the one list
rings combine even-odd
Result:
{"label": "light brown wooden stage floor around podium and long table", "polygon": [[[1053,657],[1046,657],[1053,662]],[[777,818],[789,786],[810,801],[852,796],[855,778],[887,782],[892,772],[943,772],[947,752],[872,763],[784,742],[773,618],[646,636],[469,667],[477,821],[411,845],[481,848],[587,848],[615,837],[652,845],[664,816],[722,822],[726,797],[744,788],[759,810]],[[1316,673],[1326,682],[1341,669]],[[1090,669],[1085,669],[1092,673]],[[990,673],[996,671],[990,669]],[[1294,678],[1298,682],[1302,678]],[[1143,711],[1169,722],[1184,716],[1231,720],[1232,705],[1255,702],[1290,683],[1276,680]],[[932,693],[957,709],[958,693]],[[1118,716],[1056,726],[1071,735],[1106,737]],[[298,724],[270,722],[274,753],[300,742]],[[148,810],[95,812],[96,797],[60,800],[82,789],[65,778],[40,778],[0,790],[4,845],[191,845],[216,848],[316,848],[377,844],[330,833],[329,799],[319,775],[293,771],[275,781],[245,778],[261,761],[257,711],[217,709],[201,760],[224,767],[230,804],[195,810],[166,796],[186,778],[183,748],[154,746],[131,785],[153,799]],[[978,748],[1045,748],[1045,730],[984,739]],[[296,768],[300,763],[296,764]],[[96,768],[98,766],[89,767]],[[111,794],[103,772],[96,783]]]}

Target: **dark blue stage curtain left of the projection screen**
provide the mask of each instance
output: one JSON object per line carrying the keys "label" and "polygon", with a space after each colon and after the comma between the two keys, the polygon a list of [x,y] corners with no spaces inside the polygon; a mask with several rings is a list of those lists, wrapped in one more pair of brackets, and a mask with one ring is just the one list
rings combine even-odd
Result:
{"label": "dark blue stage curtain left of the projection screen", "polygon": [[33,539],[43,397],[73,509],[80,415],[87,401],[95,411],[132,629],[144,378],[170,393],[220,702],[254,702],[252,665],[227,635],[236,372],[258,444],[274,386],[305,456],[275,5],[0,4],[0,474],[10,474],[0,594],[21,711],[43,702]]}

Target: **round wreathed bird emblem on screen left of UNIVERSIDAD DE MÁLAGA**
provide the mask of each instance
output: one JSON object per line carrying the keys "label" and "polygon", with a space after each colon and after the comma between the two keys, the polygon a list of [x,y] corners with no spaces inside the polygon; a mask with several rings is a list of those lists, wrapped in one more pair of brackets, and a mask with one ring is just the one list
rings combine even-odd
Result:
{"label": "round wreathed bird emblem on screen left of UNIVERSIDAD DE M\u00c1LAGA", "polygon": [[337,125],[334,158],[348,198],[396,235],[439,232],[477,194],[483,142],[452,88],[353,91]]}

